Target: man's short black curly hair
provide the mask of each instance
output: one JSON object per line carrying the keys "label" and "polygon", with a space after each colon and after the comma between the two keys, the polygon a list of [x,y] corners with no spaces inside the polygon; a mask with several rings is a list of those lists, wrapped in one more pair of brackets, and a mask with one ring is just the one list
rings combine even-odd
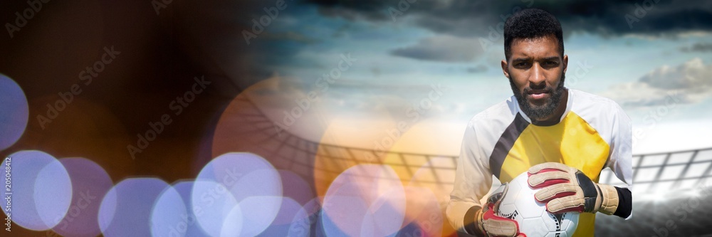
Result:
{"label": "man's short black curly hair", "polygon": [[542,9],[518,11],[504,23],[504,56],[512,56],[512,41],[516,38],[534,39],[554,36],[559,41],[559,53],[564,56],[564,37],[561,23]]}

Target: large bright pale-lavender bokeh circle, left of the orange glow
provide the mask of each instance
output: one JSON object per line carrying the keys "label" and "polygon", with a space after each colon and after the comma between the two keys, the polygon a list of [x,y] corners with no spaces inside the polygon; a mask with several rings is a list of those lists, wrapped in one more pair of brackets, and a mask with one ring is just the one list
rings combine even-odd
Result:
{"label": "large bright pale-lavender bokeh circle, left of the orange glow", "polygon": [[[231,152],[203,167],[194,183],[192,205],[194,209],[206,209],[206,215],[198,216],[197,220],[209,235],[235,231],[221,226],[230,218],[245,221],[241,224],[241,235],[254,236],[276,218],[281,197],[281,177],[269,162],[256,154]],[[236,217],[234,206],[239,206],[240,214],[249,218]]]}

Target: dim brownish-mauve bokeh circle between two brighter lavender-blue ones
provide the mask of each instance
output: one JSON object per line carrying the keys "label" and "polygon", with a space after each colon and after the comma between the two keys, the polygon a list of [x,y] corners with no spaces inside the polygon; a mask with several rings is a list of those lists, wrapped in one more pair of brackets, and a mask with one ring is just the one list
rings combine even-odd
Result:
{"label": "dim brownish-mauve bokeh circle between two brighter lavender-blue ones", "polygon": [[59,162],[67,169],[73,194],[66,216],[52,230],[62,236],[98,236],[101,233],[97,220],[99,206],[113,185],[111,178],[89,159],[62,158]]}

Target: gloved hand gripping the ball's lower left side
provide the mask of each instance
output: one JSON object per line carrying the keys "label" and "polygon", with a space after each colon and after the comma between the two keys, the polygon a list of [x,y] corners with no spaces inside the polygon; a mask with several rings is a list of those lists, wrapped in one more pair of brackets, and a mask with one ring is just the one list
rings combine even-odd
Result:
{"label": "gloved hand gripping the ball's lower left side", "polygon": [[502,184],[489,196],[483,208],[477,211],[477,227],[484,236],[525,237],[524,234],[519,233],[517,221],[496,215],[499,204],[504,199],[508,189],[508,184]]}

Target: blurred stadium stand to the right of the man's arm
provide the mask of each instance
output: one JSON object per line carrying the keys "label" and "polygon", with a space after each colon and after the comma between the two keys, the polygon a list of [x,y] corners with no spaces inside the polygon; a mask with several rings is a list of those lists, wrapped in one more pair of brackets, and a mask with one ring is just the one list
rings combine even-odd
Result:
{"label": "blurred stadium stand to the right of the man's arm", "polygon": [[[597,214],[597,236],[712,236],[712,148],[633,157],[633,217]],[[600,182],[622,181],[604,169]]]}

